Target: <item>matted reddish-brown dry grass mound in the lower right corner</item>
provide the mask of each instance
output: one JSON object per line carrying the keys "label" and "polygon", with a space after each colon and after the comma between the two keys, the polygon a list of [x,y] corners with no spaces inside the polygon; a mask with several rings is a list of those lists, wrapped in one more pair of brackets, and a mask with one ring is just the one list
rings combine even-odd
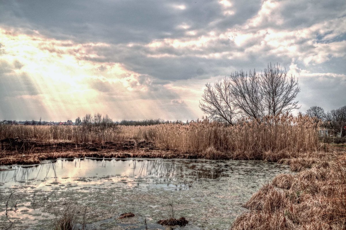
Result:
{"label": "matted reddish-brown dry grass mound in the lower right corner", "polygon": [[245,207],[251,211],[237,217],[230,229],[346,229],[346,155],[294,176],[276,176]]}

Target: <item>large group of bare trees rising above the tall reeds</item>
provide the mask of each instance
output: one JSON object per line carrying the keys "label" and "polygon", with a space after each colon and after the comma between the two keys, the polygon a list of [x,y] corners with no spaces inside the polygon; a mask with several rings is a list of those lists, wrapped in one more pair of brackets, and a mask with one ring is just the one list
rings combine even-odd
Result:
{"label": "large group of bare trees rising above the tall reeds", "polygon": [[263,73],[232,73],[229,78],[206,84],[200,102],[201,110],[212,119],[233,124],[236,115],[261,119],[266,115],[277,116],[300,108],[295,101],[300,92],[298,81],[280,65],[268,65]]}

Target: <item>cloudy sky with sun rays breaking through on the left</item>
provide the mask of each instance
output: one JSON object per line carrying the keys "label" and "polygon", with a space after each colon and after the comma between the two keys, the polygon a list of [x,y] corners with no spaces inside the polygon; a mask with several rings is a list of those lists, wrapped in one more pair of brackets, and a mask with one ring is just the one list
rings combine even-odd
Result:
{"label": "cloudy sky with sun rays breaking through on the left", "polygon": [[206,83],[268,63],[299,111],[346,105],[345,0],[0,0],[0,119],[197,119]]}

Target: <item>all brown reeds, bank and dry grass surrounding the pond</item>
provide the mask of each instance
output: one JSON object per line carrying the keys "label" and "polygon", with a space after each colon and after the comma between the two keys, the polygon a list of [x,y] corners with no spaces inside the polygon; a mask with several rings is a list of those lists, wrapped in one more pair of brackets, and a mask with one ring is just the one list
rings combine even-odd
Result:
{"label": "all brown reeds, bank and dry grass surrounding the pond", "polygon": [[[315,120],[268,116],[233,126],[208,120],[150,126],[0,125],[0,164],[58,157],[164,157],[266,160],[290,164],[244,204],[231,229],[345,229],[345,147],[319,142]],[[338,152],[336,152],[338,151]],[[333,160],[334,159],[334,160]],[[311,168],[306,170],[306,168]],[[160,224],[183,225],[172,217]]]}

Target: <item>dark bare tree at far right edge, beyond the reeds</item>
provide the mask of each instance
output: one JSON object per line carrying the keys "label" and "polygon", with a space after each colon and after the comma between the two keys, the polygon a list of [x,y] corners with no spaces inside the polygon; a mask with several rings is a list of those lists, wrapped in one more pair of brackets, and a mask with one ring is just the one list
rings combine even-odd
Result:
{"label": "dark bare tree at far right edge, beyond the reeds", "polygon": [[334,130],[335,133],[340,132],[341,127],[346,125],[346,105],[327,112],[326,122],[327,128]]}

